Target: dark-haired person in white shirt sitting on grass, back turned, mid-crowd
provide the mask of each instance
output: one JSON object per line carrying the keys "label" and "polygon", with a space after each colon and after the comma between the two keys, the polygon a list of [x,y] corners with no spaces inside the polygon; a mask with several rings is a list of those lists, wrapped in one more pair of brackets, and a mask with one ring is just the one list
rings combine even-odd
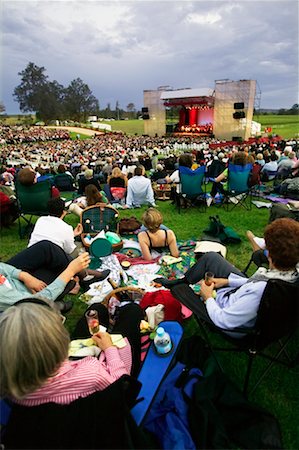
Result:
{"label": "dark-haired person in white shirt sitting on grass, back turned, mid-crowd", "polygon": [[126,205],[128,208],[138,208],[141,205],[156,206],[151,180],[144,176],[145,169],[138,166],[135,175],[128,181]]}

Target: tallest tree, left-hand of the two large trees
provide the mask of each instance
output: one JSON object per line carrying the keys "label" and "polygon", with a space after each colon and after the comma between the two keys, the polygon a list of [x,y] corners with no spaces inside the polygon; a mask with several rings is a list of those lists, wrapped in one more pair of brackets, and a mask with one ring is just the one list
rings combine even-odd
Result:
{"label": "tallest tree, left-hand of the two large trees", "polygon": [[14,89],[13,96],[18,101],[23,112],[38,113],[43,105],[43,93],[48,84],[45,68],[38,67],[34,63],[28,63],[27,67],[19,72],[21,83]]}

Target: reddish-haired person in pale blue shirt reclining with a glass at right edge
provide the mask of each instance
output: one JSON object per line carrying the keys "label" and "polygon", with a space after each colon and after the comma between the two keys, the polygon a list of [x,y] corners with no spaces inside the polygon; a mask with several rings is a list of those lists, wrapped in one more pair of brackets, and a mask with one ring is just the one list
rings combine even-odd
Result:
{"label": "reddish-haired person in pale blue shirt reclining with a glass at right edge", "polygon": [[[299,262],[299,223],[293,219],[277,219],[267,225],[264,237],[269,269],[260,267],[249,279],[219,253],[208,252],[199,258],[182,279],[157,278],[155,281],[168,288],[177,284],[200,282],[202,308],[206,308],[215,325],[224,329],[250,329],[255,324],[268,280],[299,282],[299,272],[296,268]],[[214,274],[210,286],[204,282],[206,272]],[[186,295],[188,289],[191,288],[186,286]],[[215,289],[216,296],[213,295]]]}

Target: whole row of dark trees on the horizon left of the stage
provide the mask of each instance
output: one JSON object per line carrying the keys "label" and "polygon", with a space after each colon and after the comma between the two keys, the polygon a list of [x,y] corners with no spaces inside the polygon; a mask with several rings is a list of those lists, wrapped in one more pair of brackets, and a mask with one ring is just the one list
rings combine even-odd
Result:
{"label": "whole row of dark trees on the horizon left of the stage", "polygon": [[72,80],[69,86],[64,87],[56,80],[49,80],[46,69],[32,62],[18,75],[21,83],[14,89],[13,97],[19,103],[20,110],[24,113],[34,112],[36,118],[45,123],[66,119],[86,122],[88,116],[92,115],[119,120],[125,117],[133,119],[140,114],[134,103],[129,103],[127,111],[124,111],[118,101],[114,110],[110,103],[101,110],[98,99],[81,78]]}

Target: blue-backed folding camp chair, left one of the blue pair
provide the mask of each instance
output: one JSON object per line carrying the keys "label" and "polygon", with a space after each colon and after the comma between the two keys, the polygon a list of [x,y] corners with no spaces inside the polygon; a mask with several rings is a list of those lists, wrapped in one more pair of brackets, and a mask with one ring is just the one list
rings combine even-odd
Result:
{"label": "blue-backed folding camp chair, left one of the blue pair", "polygon": [[205,170],[205,166],[200,166],[195,170],[179,166],[181,192],[177,194],[176,202],[179,213],[181,212],[181,203],[187,205],[188,200],[191,205],[202,206],[202,210],[206,211],[206,185],[203,182]]}

